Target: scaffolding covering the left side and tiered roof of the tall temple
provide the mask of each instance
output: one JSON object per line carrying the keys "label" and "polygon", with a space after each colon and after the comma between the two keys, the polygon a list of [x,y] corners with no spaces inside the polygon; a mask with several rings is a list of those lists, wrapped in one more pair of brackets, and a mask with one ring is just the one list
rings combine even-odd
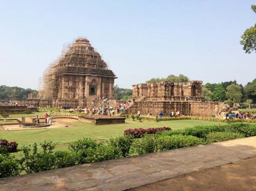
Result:
{"label": "scaffolding covering the left side and tiered roof of the tall temple", "polygon": [[78,37],[64,44],[60,57],[44,70],[43,77],[39,79],[39,99],[58,99],[59,79],[65,66],[109,68],[89,41],[85,37]]}

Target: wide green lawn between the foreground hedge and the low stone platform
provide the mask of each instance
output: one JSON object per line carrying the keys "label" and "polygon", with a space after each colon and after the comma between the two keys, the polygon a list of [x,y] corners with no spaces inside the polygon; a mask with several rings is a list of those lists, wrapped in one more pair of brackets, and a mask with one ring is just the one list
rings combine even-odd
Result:
{"label": "wide green lawn between the foreground hedge and the low stone platform", "polygon": [[123,135],[128,128],[149,128],[149,127],[171,127],[172,130],[184,127],[193,127],[194,125],[211,125],[220,122],[202,121],[202,120],[173,120],[173,121],[148,121],[143,122],[126,120],[125,124],[113,125],[94,125],[85,122],[72,122],[75,127],[63,127],[40,130],[18,130],[18,131],[0,131],[0,139],[16,141],[19,148],[23,145],[32,143],[42,143],[44,140],[51,140],[57,144],[71,143],[78,138],[95,138],[97,140],[109,139]]}

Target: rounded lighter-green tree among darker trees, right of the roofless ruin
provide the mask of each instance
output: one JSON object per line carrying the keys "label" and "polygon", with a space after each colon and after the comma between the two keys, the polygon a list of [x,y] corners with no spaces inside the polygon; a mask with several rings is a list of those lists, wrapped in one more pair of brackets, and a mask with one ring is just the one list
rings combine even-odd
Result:
{"label": "rounded lighter-green tree among darker trees, right of the roofless ruin", "polygon": [[240,103],[243,97],[242,88],[238,84],[230,84],[227,87],[226,97],[230,103]]}

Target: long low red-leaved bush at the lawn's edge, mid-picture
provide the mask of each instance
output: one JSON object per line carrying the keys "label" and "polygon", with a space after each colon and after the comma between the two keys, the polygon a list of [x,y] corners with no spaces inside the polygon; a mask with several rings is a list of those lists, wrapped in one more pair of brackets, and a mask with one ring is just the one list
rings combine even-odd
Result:
{"label": "long low red-leaved bush at the lawn's edge, mid-picture", "polygon": [[135,138],[141,138],[144,134],[156,134],[157,132],[171,130],[170,127],[157,127],[157,128],[135,128],[135,129],[127,129],[124,132],[124,135],[133,135]]}

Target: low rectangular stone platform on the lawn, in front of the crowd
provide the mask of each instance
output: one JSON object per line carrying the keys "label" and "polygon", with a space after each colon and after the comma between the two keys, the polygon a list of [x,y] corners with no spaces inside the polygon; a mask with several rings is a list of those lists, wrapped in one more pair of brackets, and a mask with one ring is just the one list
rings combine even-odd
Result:
{"label": "low rectangular stone platform on the lawn, in front of the crowd", "polygon": [[108,115],[78,115],[78,120],[96,125],[125,123],[125,117],[112,117]]}

